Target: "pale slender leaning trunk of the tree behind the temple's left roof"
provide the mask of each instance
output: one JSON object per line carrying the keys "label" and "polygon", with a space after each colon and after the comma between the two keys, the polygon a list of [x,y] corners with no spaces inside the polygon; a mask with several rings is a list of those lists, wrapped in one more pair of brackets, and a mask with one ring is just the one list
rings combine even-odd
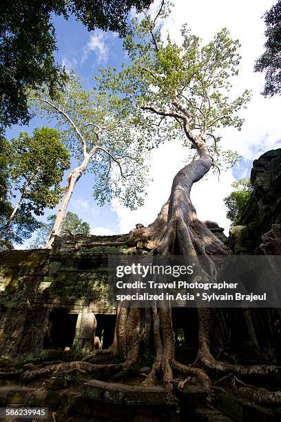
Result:
{"label": "pale slender leaning trunk of the tree behind the temple's left roof", "polygon": [[82,174],[87,169],[87,165],[90,162],[93,154],[86,154],[83,162],[78,167],[74,168],[72,172],[70,172],[69,176],[67,177],[67,187],[65,189],[65,195],[63,197],[63,201],[61,201],[61,207],[59,208],[59,212],[56,214],[56,219],[54,221],[54,225],[52,228],[52,232],[50,234],[50,238],[46,247],[48,249],[52,248],[52,243],[54,241],[54,237],[56,234],[59,234],[61,231],[61,227],[63,225],[63,219],[65,217],[65,212],[67,210],[67,206],[70,203],[70,199],[72,197],[72,193],[76,186],[76,183],[81,178]]}

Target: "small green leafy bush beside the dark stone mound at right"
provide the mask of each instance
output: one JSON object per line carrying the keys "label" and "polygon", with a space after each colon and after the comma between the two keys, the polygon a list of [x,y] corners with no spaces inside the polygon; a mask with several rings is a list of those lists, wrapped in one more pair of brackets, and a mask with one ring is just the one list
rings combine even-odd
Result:
{"label": "small green leafy bush beside the dark stone mound at right", "polygon": [[231,186],[236,190],[233,190],[233,192],[231,192],[224,201],[228,208],[227,218],[231,221],[231,225],[236,225],[242,217],[244,209],[251,197],[253,187],[250,179],[248,178],[243,178],[233,182]]}

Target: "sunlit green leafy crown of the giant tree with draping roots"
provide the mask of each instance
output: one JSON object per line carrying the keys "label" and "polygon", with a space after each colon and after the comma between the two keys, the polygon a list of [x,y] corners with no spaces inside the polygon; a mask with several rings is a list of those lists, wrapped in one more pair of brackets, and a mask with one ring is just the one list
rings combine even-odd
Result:
{"label": "sunlit green leafy crown of the giant tree with draping roots", "polygon": [[[168,12],[162,8],[157,18]],[[138,130],[149,127],[156,142],[179,137],[190,147],[200,135],[216,165],[232,165],[238,155],[221,150],[216,130],[240,130],[238,111],[250,98],[248,90],[236,99],[229,96],[231,79],[238,74],[239,42],[225,28],[205,45],[187,26],[181,33],[178,46],[169,35],[163,39],[156,19],[147,14],[141,22],[134,19],[124,42],[132,64],[120,72],[101,70],[97,89],[110,92],[112,110],[122,102]]]}

